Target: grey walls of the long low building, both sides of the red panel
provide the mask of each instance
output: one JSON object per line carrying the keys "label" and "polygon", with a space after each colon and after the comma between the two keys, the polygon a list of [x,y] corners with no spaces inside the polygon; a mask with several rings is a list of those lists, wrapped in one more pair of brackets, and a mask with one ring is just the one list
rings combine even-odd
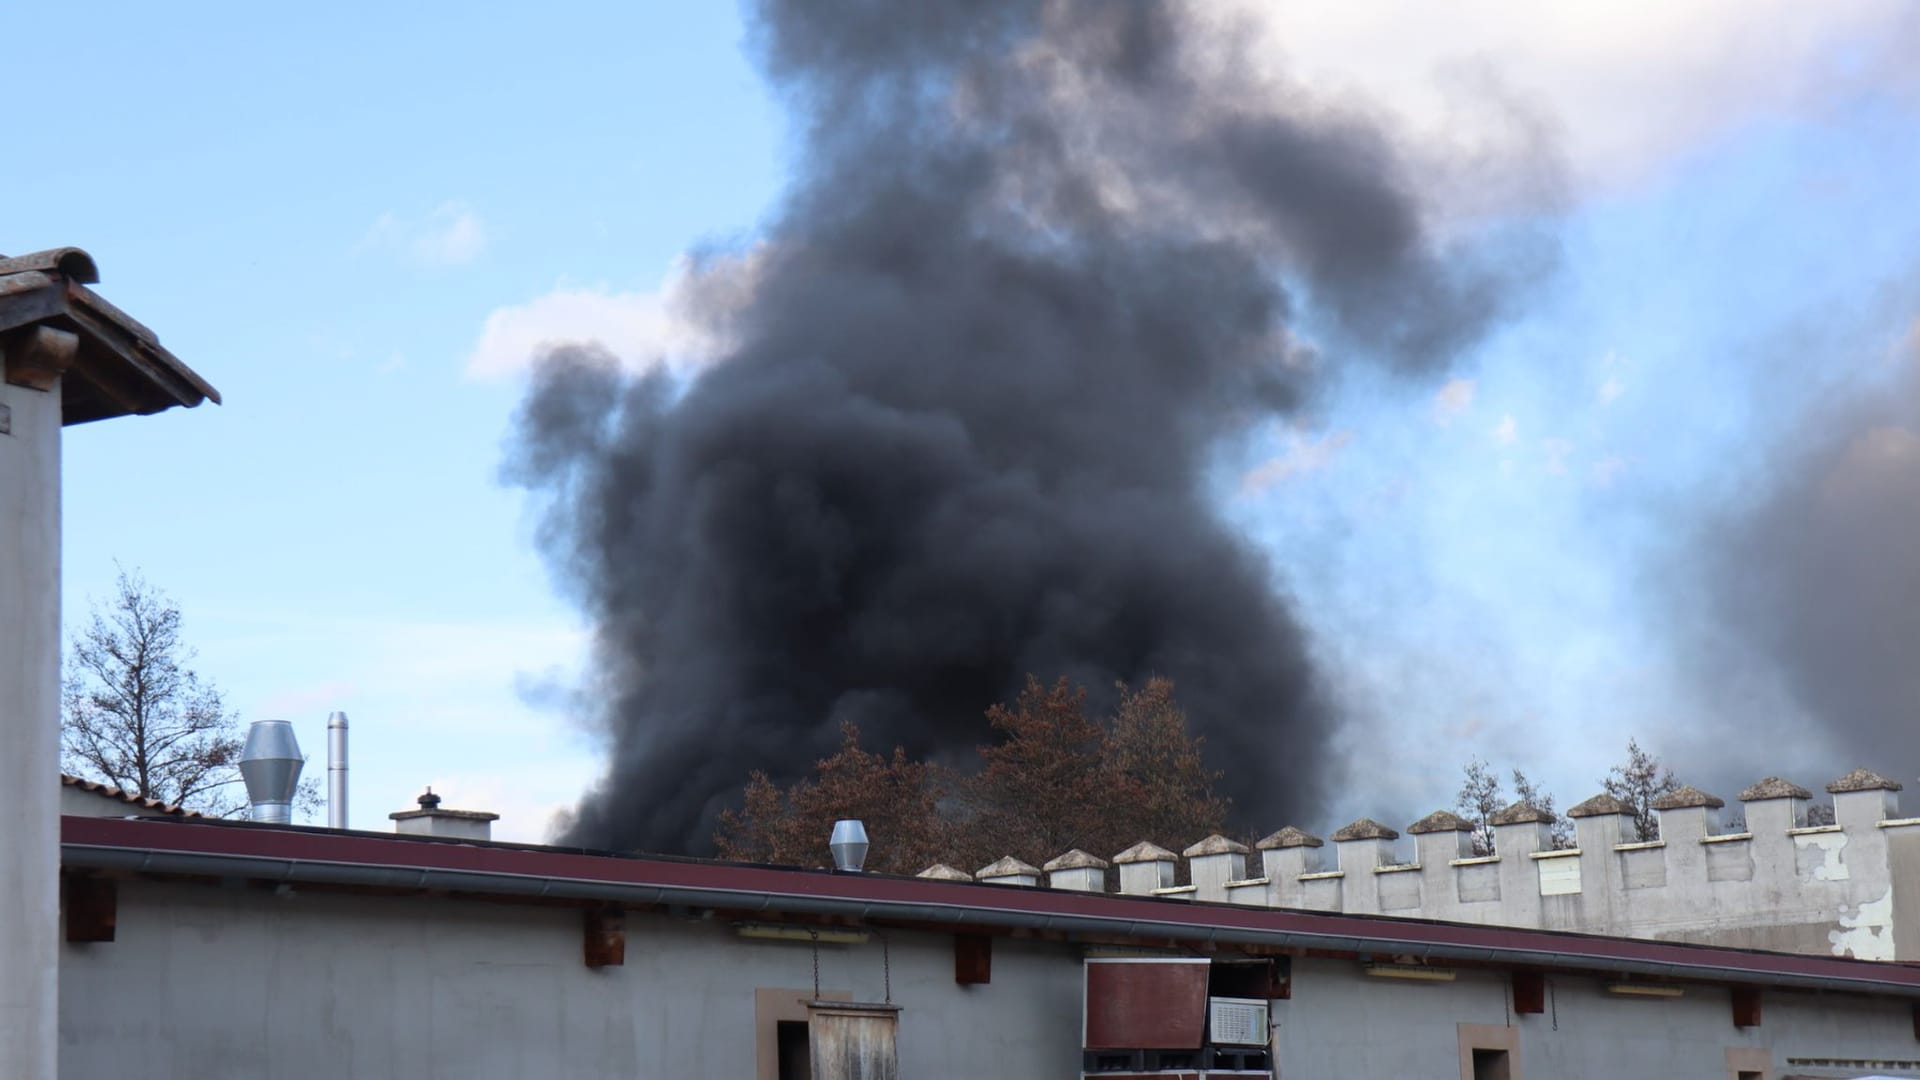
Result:
{"label": "grey walls of the long low building, both sides of the red panel", "polygon": [[[808,944],[743,940],[714,920],[630,913],[626,965],[591,970],[568,907],[119,890],[117,940],[61,953],[60,1067],[73,1080],[751,1078],[756,1017],[778,990],[812,994]],[[1002,938],[993,982],[962,988],[945,936],[897,932],[900,1074],[1075,1076],[1081,963],[1073,945]],[[877,942],[820,947],[828,995],[877,1001],[885,978]],[[1511,1024],[1519,1076],[1567,1080],[1720,1078],[1728,1049],[1759,1049],[1776,1078],[1793,1057],[1920,1059],[1905,1001],[1768,994],[1763,1026],[1738,1030],[1726,988],[1622,999],[1555,976],[1549,1015],[1509,1017],[1498,972],[1407,984],[1331,959],[1296,961],[1273,1020],[1286,1080],[1453,1080],[1461,1024]]]}

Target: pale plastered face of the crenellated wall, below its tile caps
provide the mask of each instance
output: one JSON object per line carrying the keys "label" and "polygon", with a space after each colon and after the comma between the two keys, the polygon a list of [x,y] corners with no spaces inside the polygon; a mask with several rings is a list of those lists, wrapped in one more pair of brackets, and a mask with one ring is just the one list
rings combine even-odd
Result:
{"label": "pale plastered face of the crenellated wall, below its tile caps", "polygon": [[1732,836],[1705,807],[1661,811],[1649,844],[1632,842],[1626,815],[1586,817],[1567,851],[1524,822],[1496,826],[1490,857],[1453,830],[1260,851],[1252,869],[1194,857],[1183,896],[1920,961],[1920,819],[1882,790],[1839,794],[1834,809],[1836,824],[1803,828],[1799,799],[1755,799]]}

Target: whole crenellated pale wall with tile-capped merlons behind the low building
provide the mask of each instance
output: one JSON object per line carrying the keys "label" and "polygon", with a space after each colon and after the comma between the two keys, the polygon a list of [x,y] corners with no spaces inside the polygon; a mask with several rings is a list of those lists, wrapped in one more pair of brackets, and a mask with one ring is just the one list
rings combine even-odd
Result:
{"label": "whole crenellated pale wall with tile-capped merlons behind the low building", "polygon": [[1722,832],[1724,801],[1682,788],[1655,801],[1647,842],[1624,803],[1596,796],[1569,811],[1572,847],[1555,847],[1548,813],[1515,803],[1494,815],[1488,855],[1473,822],[1434,811],[1407,826],[1411,842],[1361,819],[1331,844],[1288,826],[1252,851],[1208,836],[1179,853],[1140,842],[1112,859],[925,872],[1100,892],[1117,865],[1127,896],[1920,961],[1920,819],[1901,817],[1901,784],[1866,769],[1826,790],[1832,824],[1809,824],[1807,788],[1768,776],[1740,794],[1743,826]]}

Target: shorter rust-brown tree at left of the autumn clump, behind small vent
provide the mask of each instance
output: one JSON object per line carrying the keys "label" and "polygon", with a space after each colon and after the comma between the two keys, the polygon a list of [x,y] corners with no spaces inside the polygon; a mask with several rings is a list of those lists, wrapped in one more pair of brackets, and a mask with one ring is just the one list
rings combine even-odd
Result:
{"label": "shorter rust-brown tree at left of the autumn clump, behind small vent", "polygon": [[902,748],[891,755],[860,749],[860,728],[847,723],[839,749],[791,788],[755,771],[743,805],[720,815],[714,844],[724,859],[820,867],[828,865],[833,822],[851,817],[881,840],[868,853],[868,871],[912,874],[950,857],[950,828],[939,811],[945,784],[937,767],[908,759]]}

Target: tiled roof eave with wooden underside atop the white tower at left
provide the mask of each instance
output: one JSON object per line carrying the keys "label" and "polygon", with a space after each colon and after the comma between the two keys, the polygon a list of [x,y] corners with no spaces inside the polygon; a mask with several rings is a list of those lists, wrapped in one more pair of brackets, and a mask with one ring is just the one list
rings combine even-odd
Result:
{"label": "tiled roof eave with wooden underside atop the white tower at left", "polygon": [[0,256],[0,344],[25,350],[29,334],[73,334],[61,338],[73,350],[60,379],[65,425],[219,404],[219,390],[154,331],[86,288],[94,281],[100,271],[81,248]]}

